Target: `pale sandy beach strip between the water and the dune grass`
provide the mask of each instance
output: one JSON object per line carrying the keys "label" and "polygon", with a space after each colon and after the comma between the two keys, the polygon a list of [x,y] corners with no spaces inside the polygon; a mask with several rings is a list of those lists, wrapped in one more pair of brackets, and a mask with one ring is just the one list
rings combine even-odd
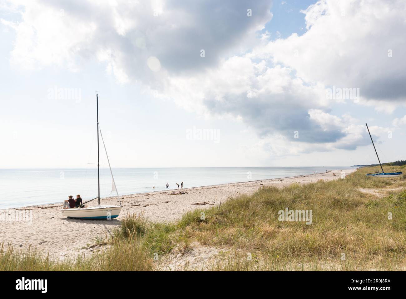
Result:
{"label": "pale sandy beach strip between the water and the dune grass", "polygon": [[[345,170],[346,175],[354,172]],[[112,220],[79,220],[61,216],[63,204],[49,204],[9,209],[15,211],[32,210],[32,222],[1,221],[0,243],[11,244],[15,249],[39,249],[53,258],[65,258],[72,254],[94,250],[97,236],[104,238],[112,234],[114,227],[120,225],[120,219],[127,213],[141,213],[152,221],[176,221],[188,210],[208,208],[224,202],[230,196],[252,194],[262,186],[286,186],[290,183],[311,183],[323,180],[340,179],[341,170],[325,173],[229,183],[215,186],[184,188],[185,194],[169,195],[175,190],[156,191],[142,194],[120,196],[123,210],[118,218]],[[176,190],[178,191],[178,190]],[[102,204],[116,205],[117,197],[101,199]],[[97,200],[89,206],[97,205]],[[4,212],[4,210],[2,211]]]}

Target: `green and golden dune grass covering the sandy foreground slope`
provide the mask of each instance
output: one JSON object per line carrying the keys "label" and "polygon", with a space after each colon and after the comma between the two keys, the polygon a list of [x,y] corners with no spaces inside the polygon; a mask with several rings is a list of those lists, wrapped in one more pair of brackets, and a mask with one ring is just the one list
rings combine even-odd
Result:
{"label": "green and golden dune grass covering the sandy foreground slope", "polygon": [[[406,177],[365,176],[375,171],[378,167],[365,167],[332,181],[263,187],[186,212],[176,223],[126,215],[90,258],[54,261],[2,246],[0,270],[168,270],[171,258],[199,246],[219,254],[203,267],[186,264],[182,270],[405,270]],[[286,208],[311,211],[311,224],[280,221],[279,211]]]}

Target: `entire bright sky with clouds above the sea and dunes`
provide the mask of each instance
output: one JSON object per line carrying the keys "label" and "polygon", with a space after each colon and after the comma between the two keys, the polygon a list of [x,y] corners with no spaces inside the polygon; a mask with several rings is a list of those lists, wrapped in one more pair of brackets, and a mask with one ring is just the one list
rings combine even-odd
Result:
{"label": "entire bright sky with clouds above the sea and dunes", "polygon": [[4,2],[0,167],[95,162],[96,90],[113,167],[405,158],[404,3],[219,3]]}

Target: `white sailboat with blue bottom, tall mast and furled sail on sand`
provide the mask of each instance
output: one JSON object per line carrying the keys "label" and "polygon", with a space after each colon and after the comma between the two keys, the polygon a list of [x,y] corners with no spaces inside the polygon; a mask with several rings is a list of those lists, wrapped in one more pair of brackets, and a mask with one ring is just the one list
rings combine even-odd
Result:
{"label": "white sailboat with blue bottom, tall mast and furled sail on sand", "polygon": [[[106,151],[108,167],[110,168],[111,178],[112,178],[112,190],[117,192],[116,182],[114,181],[113,172],[111,170],[110,161],[108,159],[106,144],[104,144],[102,131],[99,128],[99,98],[96,94],[96,110],[97,110],[97,183],[99,187],[99,193],[97,196],[98,205],[94,207],[83,207],[83,208],[70,208],[61,210],[62,216],[67,216],[70,218],[80,218],[80,219],[112,219],[119,216],[121,212],[120,205],[100,205],[100,161],[99,161],[99,132],[102,137],[104,151]],[[117,197],[119,193],[117,192]]]}

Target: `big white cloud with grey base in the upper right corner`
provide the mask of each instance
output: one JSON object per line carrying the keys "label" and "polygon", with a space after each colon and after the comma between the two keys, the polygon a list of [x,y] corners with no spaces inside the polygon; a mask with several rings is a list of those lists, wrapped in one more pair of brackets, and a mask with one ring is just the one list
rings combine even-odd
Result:
{"label": "big white cloud with grey base in the upper right corner", "polygon": [[289,66],[306,82],[360,88],[380,109],[380,100],[406,100],[406,2],[322,0],[303,13],[306,33],[270,41],[254,55]]}

